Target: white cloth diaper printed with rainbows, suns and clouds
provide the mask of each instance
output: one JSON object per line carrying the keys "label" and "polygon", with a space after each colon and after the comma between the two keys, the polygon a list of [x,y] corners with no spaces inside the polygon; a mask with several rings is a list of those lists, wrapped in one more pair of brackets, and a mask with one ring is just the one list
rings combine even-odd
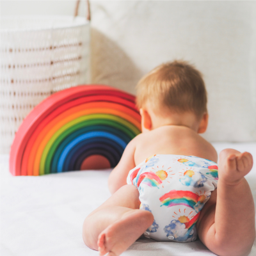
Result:
{"label": "white cloth diaper printed with rainbows, suns and clouds", "polygon": [[144,236],[157,241],[195,241],[196,221],[217,183],[218,166],[210,160],[179,155],[148,157],[127,177],[127,184],[140,192],[140,209],[154,216]]}

